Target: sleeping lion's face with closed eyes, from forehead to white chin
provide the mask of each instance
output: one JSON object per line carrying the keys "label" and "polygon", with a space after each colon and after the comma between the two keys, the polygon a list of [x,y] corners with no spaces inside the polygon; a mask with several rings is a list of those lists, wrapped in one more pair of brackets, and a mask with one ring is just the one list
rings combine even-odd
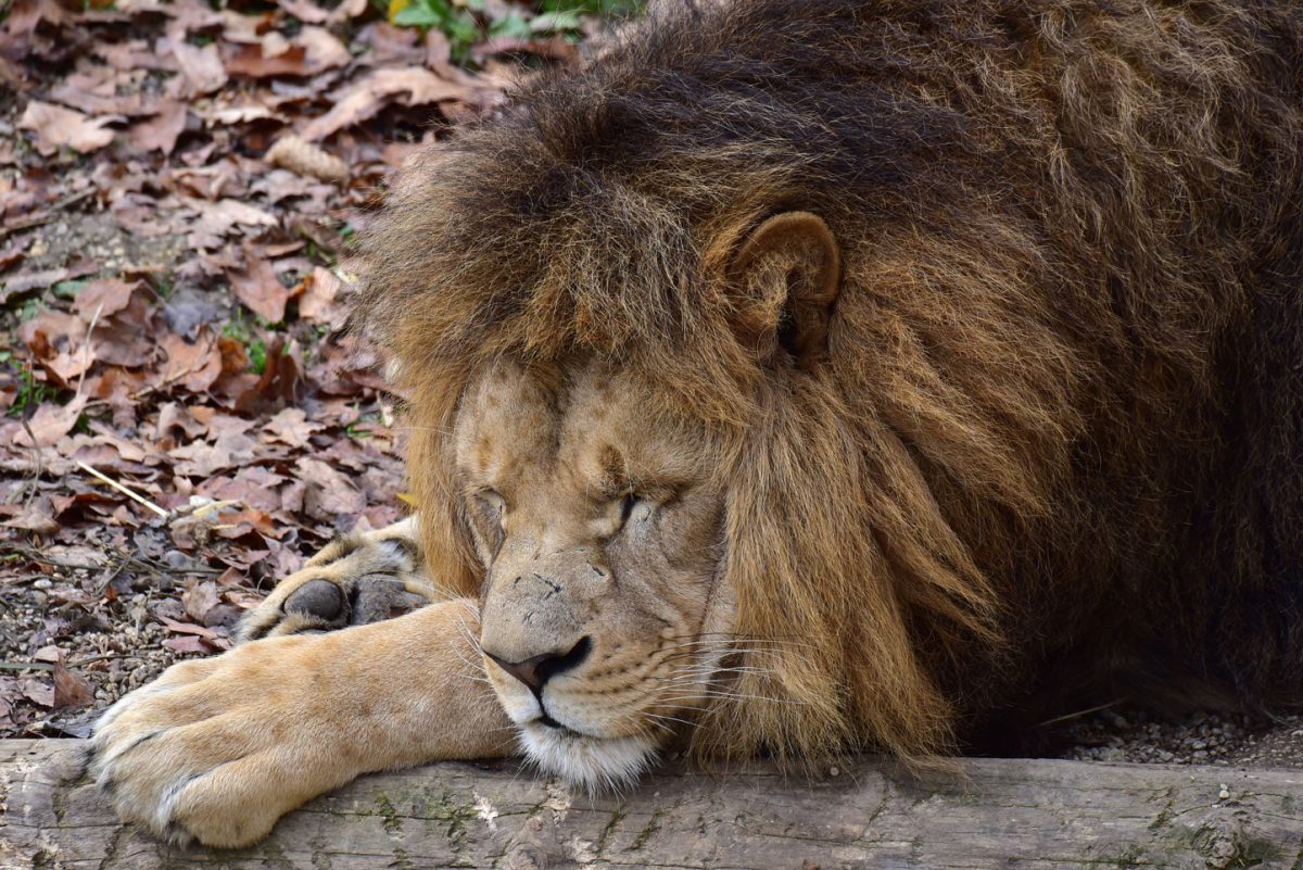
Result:
{"label": "sleeping lion's face with closed eyes, from forehead to white chin", "polygon": [[498,362],[455,448],[485,567],[485,668],[526,753],[590,787],[636,775],[709,694],[734,604],[709,438],[586,362]]}

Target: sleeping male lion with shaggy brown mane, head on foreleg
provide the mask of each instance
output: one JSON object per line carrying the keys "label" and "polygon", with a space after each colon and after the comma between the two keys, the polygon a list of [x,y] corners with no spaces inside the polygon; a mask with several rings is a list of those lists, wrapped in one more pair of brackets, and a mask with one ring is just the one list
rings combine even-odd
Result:
{"label": "sleeping male lion with shaggy brown mane, head on foreleg", "polygon": [[[1141,681],[1298,703],[1300,210],[1291,0],[657,13],[369,234],[420,531],[332,544],[94,772],[237,845],[431,759],[601,787]],[[395,583],[434,603],[319,630]]]}

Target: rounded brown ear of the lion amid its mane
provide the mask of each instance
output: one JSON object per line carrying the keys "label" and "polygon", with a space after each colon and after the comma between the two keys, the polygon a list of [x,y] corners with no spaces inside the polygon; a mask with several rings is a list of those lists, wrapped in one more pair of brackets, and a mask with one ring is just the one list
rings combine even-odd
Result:
{"label": "rounded brown ear of the lion amid its mane", "polygon": [[842,255],[818,215],[786,211],[756,227],[732,258],[734,328],[765,362],[809,370],[827,354]]}

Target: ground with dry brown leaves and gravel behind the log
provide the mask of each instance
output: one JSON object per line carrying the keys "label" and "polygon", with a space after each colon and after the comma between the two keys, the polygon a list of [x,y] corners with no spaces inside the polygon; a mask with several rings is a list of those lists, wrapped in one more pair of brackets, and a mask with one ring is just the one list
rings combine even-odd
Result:
{"label": "ground with dry brown leaves and gravel behind the log", "polygon": [[[422,142],[571,64],[611,0],[0,3],[0,737],[85,736],[401,496],[340,332]],[[1303,720],[1124,705],[1067,757],[1303,765]]]}

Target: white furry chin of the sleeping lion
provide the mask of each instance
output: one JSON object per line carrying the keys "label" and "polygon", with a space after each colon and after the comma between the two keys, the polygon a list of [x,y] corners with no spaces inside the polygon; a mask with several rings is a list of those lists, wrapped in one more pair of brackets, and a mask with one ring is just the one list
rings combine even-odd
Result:
{"label": "white furry chin of the sleeping lion", "polygon": [[657,751],[648,737],[590,737],[537,722],[521,727],[520,744],[542,772],[592,794],[632,784]]}

